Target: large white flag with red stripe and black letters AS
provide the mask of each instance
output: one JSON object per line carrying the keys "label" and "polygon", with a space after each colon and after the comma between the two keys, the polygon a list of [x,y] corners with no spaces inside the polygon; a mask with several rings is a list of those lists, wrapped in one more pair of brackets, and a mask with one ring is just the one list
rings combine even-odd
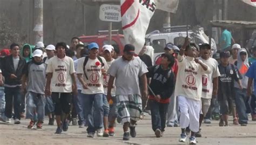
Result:
{"label": "large white flag with red stripe and black letters AS", "polygon": [[144,46],[147,27],[155,10],[154,0],[121,0],[125,42],[134,45],[137,54]]}

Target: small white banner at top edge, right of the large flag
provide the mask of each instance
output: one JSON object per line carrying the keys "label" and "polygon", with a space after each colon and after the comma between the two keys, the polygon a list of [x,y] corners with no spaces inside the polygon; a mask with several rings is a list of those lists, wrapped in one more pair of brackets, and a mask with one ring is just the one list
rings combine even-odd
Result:
{"label": "small white banner at top edge, right of the large flag", "polygon": [[176,13],[179,5],[179,0],[155,0],[157,9]]}

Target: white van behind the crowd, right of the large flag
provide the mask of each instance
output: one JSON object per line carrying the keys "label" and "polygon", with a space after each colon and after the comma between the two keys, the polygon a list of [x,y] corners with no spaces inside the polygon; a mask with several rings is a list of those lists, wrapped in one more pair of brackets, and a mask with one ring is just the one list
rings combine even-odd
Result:
{"label": "white van behind the crowd, right of the large flag", "polygon": [[[155,30],[146,34],[146,43],[151,43],[154,48],[154,62],[159,57],[159,54],[164,52],[164,47],[167,43],[172,43],[176,46],[183,45],[186,34],[186,26],[171,26],[170,32],[160,32]],[[188,30],[188,38],[191,39],[191,42],[194,42],[198,45],[203,43],[208,43],[208,36],[204,33],[203,27],[194,27],[193,30]],[[217,46],[212,39],[212,54],[217,52]]]}

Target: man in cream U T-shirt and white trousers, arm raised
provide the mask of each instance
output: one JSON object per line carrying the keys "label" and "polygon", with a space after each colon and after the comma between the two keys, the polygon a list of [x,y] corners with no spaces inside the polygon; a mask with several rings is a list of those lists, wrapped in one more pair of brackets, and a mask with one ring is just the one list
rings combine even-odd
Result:
{"label": "man in cream U T-shirt and white trousers, arm raised", "polygon": [[[195,133],[199,130],[202,76],[210,73],[210,68],[196,58],[198,48],[185,38],[178,55],[178,75],[174,95],[178,97],[181,135],[179,142],[186,142],[185,128],[190,127],[190,143],[196,144]],[[184,52],[186,56],[184,55]]]}

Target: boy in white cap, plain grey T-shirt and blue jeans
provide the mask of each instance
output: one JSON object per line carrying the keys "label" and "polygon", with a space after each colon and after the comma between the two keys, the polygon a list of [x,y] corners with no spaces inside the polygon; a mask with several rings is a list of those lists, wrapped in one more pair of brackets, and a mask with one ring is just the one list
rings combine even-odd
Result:
{"label": "boy in white cap, plain grey T-shirt and blue jeans", "polygon": [[42,129],[45,106],[44,88],[46,82],[46,64],[42,62],[42,50],[35,50],[32,54],[32,57],[32,61],[26,65],[25,74],[23,75],[22,79],[22,86],[26,86],[27,84],[26,117],[30,118],[31,120],[28,128],[33,128],[36,123],[34,120],[36,109],[38,118],[36,127],[37,129]]}

